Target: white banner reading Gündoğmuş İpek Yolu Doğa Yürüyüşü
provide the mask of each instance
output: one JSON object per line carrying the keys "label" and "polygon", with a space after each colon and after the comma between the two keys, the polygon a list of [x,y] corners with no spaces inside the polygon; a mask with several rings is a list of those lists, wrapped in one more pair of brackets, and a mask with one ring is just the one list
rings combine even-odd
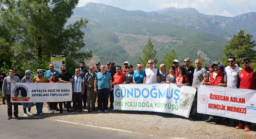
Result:
{"label": "white banner reading G\u00fcndo\u011fmu\u015f \u0130pek Yolu Do\u011fa Y\u00fcr\u00fcy\u00fc\u015f\u00fc", "polygon": [[114,109],[151,111],[189,117],[195,88],[175,84],[114,85]]}

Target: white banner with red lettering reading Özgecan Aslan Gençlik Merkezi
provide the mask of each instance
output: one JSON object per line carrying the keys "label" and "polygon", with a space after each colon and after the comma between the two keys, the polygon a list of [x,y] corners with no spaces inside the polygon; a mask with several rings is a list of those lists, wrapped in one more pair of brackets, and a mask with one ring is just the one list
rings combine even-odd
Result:
{"label": "white banner with red lettering reading \u00d6zgecan Aslan Gen\u00e7lik Merkezi", "polygon": [[256,123],[256,90],[200,85],[197,112]]}

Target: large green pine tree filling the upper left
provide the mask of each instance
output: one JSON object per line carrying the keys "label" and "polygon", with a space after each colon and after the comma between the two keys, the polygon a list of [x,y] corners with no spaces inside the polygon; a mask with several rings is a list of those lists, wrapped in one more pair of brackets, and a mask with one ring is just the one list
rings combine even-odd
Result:
{"label": "large green pine tree filling the upper left", "polygon": [[[24,66],[50,62],[50,53],[66,54],[67,65],[78,59],[89,59],[92,51],[82,52],[85,46],[82,28],[88,19],[66,25],[78,0],[0,0],[0,14],[6,29],[15,36],[15,59]],[[13,63],[17,64],[17,63]],[[78,64],[77,64],[78,65]],[[77,67],[76,65],[76,67]],[[68,66],[67,66],[68,67]],[[29,68],[29,67],[27,67]]]}

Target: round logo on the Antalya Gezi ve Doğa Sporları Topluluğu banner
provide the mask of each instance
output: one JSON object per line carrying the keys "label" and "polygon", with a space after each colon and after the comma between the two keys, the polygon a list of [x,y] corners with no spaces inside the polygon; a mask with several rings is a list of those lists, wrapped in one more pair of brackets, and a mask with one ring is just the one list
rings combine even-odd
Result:
{"label": "round logo on the Antalya Gezi ve Do\u011fa Sporlar\u0131 Toplulu\u011fu banner", "polygon": [[28,95],[28,88],[25,85],[17,85],[12,90],[12,93],[14,93],[14,97],[12,97],[12,101],[29,101],[30,97],[27,97]]}

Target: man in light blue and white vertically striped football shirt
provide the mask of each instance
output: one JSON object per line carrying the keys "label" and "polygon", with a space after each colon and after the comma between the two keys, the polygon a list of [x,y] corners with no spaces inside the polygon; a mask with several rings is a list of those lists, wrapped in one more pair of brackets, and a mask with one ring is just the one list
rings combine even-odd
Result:
{"label": "man in light blue and white vertically striped football shirt", "polygon": [[80,69],[75,70],[76,75],[73,78],[73,108],[74,111],[82,112],[82,98],[85,93],[85,78],[80,75]]}

